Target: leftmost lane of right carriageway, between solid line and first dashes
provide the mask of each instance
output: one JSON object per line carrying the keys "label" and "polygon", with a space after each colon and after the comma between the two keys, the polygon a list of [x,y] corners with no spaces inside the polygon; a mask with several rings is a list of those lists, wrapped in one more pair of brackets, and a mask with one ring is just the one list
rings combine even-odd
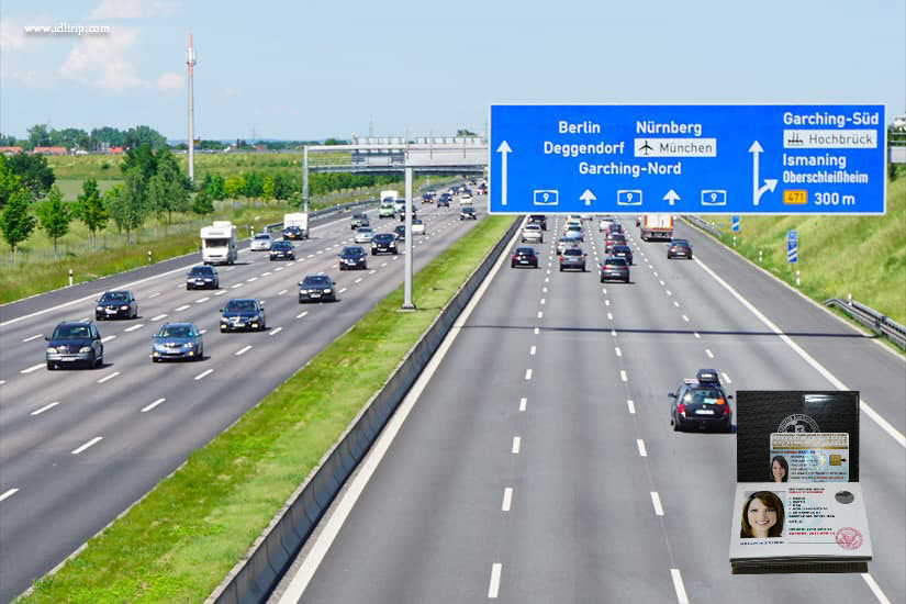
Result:
{"label": "leftmost lane of right carriageway, between solid line and first dashes", "polygon": [[[512,273],[502,294],[508,303],[462,329],[460,338],[480,344],[460,353],[452,388],[437,377],[428,384],[303,602],[443,602],[486,592],[512,455],[507,428],[519,413],[513,394],[524,379],[524,367],[510,374],[512,355],[501,354],[508,347],[500,342],[527,357],[533,329],[524,323],[537,305],[529,292],[541,282],[538,271]],[[477,380],[476,367],[495,378]]]}

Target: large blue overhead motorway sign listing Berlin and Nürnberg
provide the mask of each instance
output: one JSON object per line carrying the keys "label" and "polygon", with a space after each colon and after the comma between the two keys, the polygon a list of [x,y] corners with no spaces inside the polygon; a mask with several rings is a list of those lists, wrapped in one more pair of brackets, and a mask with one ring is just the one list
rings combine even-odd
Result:
{"label": "large blue overhead motorway sign listing Berlin and N\u00fcrnberg", "polygon": [[883,214],[884,105],[491,105],[490,211]]}

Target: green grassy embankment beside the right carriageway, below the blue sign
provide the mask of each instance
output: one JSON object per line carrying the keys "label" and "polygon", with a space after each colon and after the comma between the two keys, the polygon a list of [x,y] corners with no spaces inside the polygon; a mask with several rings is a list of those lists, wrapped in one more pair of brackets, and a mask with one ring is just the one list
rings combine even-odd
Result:
{"label": "green grassy embankment beside the right carriageway, below the blue sign", "polygon": [[[724,225],[732,246],[729,216],[707,217]],[[883,216],[742,216],[736,250],[795,284],[818,302],[855,300],[906,324],[906,170],[887,186]],[[798,231],[798,262],[786,262],[786,232]]]}

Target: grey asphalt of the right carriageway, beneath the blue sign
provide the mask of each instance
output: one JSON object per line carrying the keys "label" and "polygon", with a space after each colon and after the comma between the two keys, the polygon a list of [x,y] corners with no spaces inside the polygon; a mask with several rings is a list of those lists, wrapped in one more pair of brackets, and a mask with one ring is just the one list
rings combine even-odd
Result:
{"label": "grey asphalt of the right carriageway, beneath the blue sign", "polygon": [[[627,221],[630,284],[599,282],[596,225],[590,272],[559,272],[562,224],[540,269],[503,264],[271,601],[906,602],[903,359],[684,224],[694,260]],[[705,367],[730,392],[861,391],[868,574],[730,574],[736,436],[668,418]]]}

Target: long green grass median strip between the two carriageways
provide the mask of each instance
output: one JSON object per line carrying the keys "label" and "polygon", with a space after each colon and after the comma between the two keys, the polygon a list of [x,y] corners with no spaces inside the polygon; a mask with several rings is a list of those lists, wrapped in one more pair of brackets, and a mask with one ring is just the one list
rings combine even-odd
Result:
{"label": "long green grass median strip between the two carriageways", "polygon": [[[481,221],[197,450],[25,602],[202,602],[248,550],[512,223]],[[356,368],[349,371],[349,368]]]}

